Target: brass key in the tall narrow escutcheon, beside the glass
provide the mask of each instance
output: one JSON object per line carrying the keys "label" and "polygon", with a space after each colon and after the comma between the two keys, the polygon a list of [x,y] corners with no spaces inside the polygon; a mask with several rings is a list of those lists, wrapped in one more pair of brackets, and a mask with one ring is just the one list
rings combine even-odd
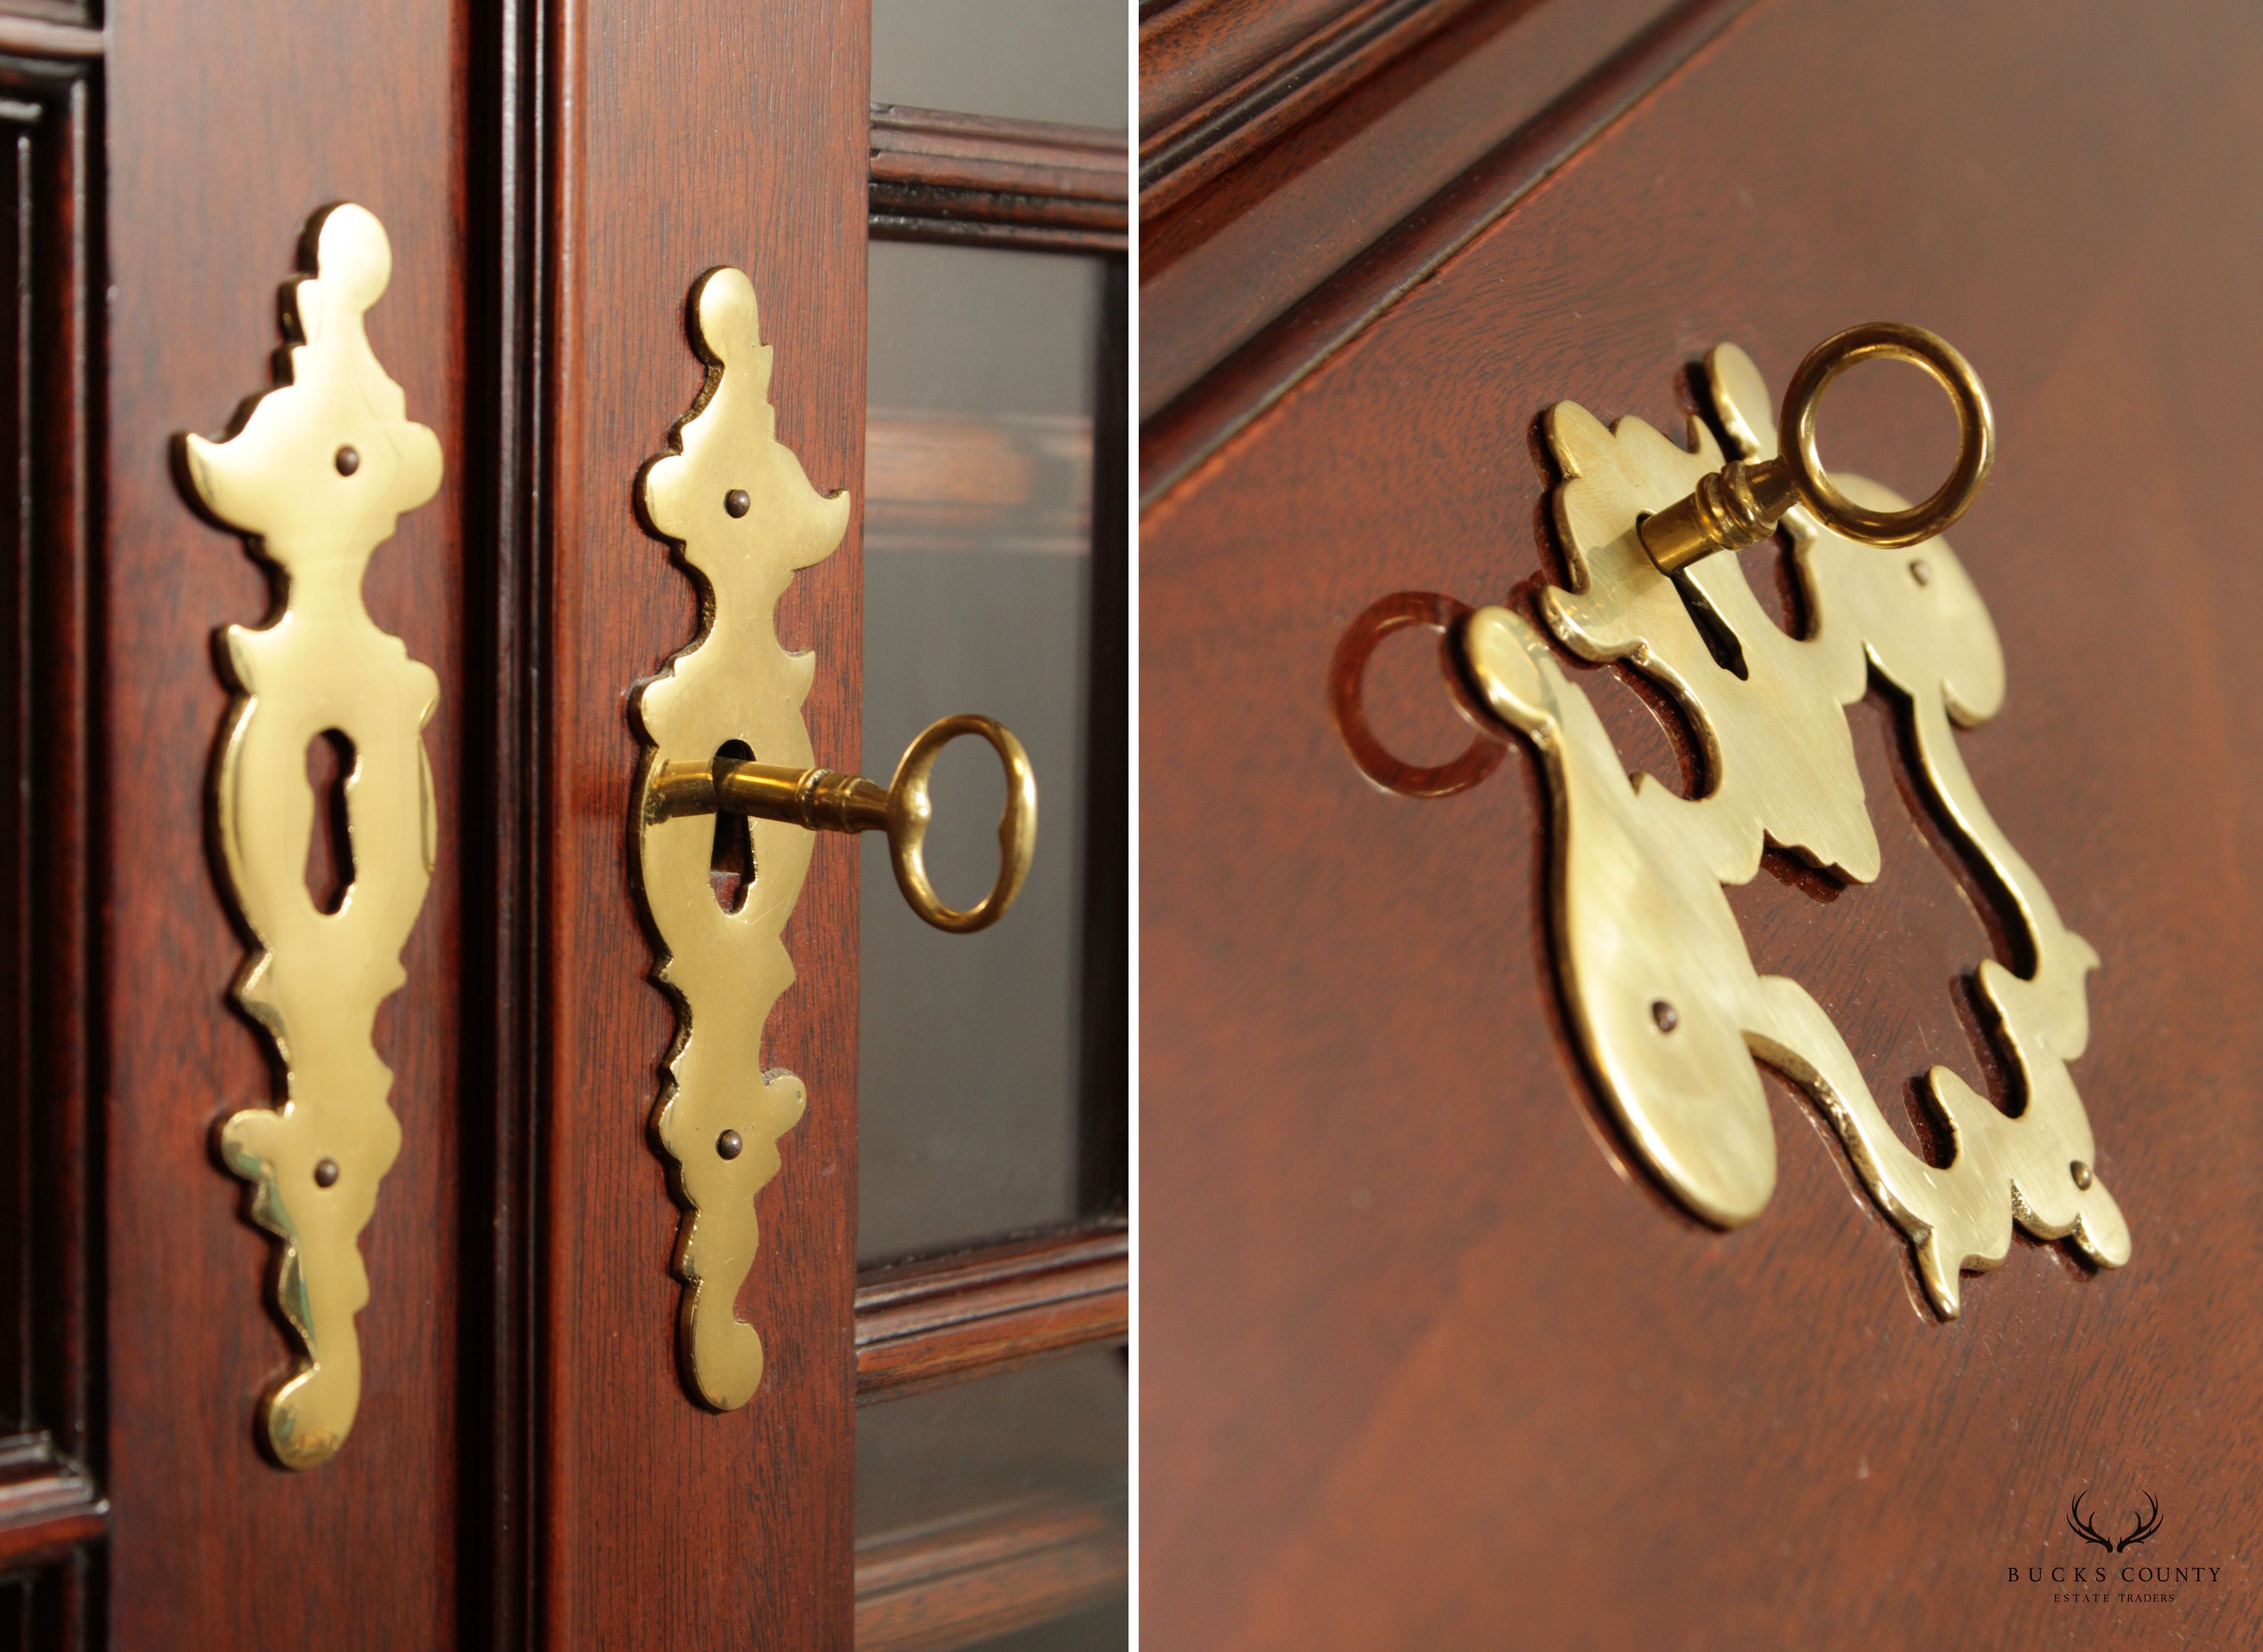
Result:
{"label": "brass key in the tall narrow escutcheon, beside the glass", "polygon": [[[989,740],[1007,781],[1005,810],[998,815],[998,880],[964,912],[937,898],[926,864],[928,821],[935,817],[928,778],[935,758],[960,735]],[[1003,724],[969,713],[928,724],[905,747],[896,778],[885,788],[862,774],[720,758],[661,765],[645,790],[645,808],[654,819],[731,812],[812,833],[887,833],[889,864],[896,869],[896,887],[903,889],[905,903],[953,935],[987,930],[1003,919],[1021,894],[1030,876],[1030,855],[1036,851],[1036,774],[1030,769],[1030,754]]]}

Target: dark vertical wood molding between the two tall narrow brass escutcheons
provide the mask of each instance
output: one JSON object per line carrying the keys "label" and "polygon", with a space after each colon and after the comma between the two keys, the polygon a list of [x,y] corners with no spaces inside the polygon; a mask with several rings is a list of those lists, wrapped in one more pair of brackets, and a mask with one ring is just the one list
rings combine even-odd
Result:
{"label": "dark vertical wood molding between the two tall narrow brass escutcheons", "polygon": [[[543,681],[545,432],[550,217],[548,134],[557,79],[548,72],[557,14],[543,0],[502,0],[471,14],[473,111],[468,208],[475,249],[464,265],[466,403],[464,534],[489,545],[464,582],[466,801],[462,853],[464,973],[459,1082],[489,1098],[464,1132],[462,1301],[457,1337],[457,1564],[462,1645],[514,1652],[536,1643],[539,1593],[539,1317],[536,1188],[541,1172],[543,991]],[[473,758],[471,754],[477,754]],[[475,894],[477,892],[477,894]]]}

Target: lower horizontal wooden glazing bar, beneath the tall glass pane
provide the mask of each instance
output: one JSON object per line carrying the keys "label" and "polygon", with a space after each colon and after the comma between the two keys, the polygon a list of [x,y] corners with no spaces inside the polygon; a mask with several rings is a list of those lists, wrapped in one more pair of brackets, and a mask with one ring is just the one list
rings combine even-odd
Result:
{"label": "lower horizontal wooden glazing bar, beneath the tall glass pane", "polygon": [[919,1394],[1122,1342],[1129,1328],[1132,1245],[1120,1227],[874,1267],[855,1288],[855,1396]]}

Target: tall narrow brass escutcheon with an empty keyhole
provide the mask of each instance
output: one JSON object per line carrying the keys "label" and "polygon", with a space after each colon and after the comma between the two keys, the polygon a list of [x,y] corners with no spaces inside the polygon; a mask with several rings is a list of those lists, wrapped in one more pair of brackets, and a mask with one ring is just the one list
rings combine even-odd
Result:
{"label": "tall narrow brass escutcheon with an empty keyhole", "polygon": [[[308,274],[285,287],[283,382],[226,441],[179,441],[195,500],[283,575],[281,611],[226,631],[235,704],[213,797],[229,894],[256,941],[235,998],[285,1068],[283,1104],[226,1118],[220,1152],[251,1184],[253,1220],[283,1242],[276,1308],[303,1356],[267,1392],[263,1423],[290,1469],[337,1455],[360,1405],[360,1233],[401,1152],[394,1075],[371,1023],[407,980],[401,948],[432,878],[423,724],[439,704],[432,668],[362,606],[371,552],[439,491],[441,473],[439,439],[407,419],[362,330],[391,247],[376,217],[337,206],[308,226],[306,251]],[[353,883],[335,912],[306,887],[306,751],[328,731],[353,742]]]}

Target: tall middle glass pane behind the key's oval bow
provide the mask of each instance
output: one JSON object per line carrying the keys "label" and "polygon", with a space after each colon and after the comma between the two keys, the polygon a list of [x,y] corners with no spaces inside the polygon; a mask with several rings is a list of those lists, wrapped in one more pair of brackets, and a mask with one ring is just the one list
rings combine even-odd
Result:
{"label": "tall middle glass pane behind the key's oval bow", "polygon": [[[1030,883],[980,935],[912,917],[862,849],[858,1254],[1077,1215],[1093,373],[1100,265],[874,242],[864,464],[864,772],[926,724],[998,717],[1036,769]],[[973,905],[1005,783],[980,740],[935,769],[928,869]]]}

